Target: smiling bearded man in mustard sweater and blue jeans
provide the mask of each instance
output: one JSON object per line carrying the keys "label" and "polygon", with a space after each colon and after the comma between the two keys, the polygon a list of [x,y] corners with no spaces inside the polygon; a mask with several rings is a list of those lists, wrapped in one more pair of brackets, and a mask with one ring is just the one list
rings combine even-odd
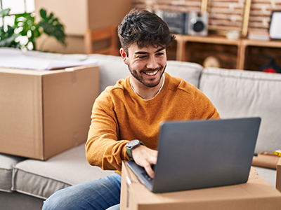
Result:
{"label": "smiling bearded man in mustard sweater and blue jeans", "polygon": [[46,209],[118,208],[122,160],[134,160],[154,177],[151,165],[157,162],[160,122],[219,118],[200,90],[164,73],[166,48],[174,35],[161,18],[133,9],[119,25],[118,35],[120,54],[131,75],[96,99],[86,142],[90,165],[116,171],[58,191],[45,202]]}

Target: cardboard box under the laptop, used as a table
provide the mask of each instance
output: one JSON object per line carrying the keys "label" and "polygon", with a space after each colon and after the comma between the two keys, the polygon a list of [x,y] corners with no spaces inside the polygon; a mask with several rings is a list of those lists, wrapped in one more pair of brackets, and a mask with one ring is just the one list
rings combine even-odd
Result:
{"label": "cardboard box under the laptop, used as a table", "polygon": [[121,210],[243,210],[281,209],[281,193],[251,169],[249,181],[235,186],[151,193],[122,164]]}

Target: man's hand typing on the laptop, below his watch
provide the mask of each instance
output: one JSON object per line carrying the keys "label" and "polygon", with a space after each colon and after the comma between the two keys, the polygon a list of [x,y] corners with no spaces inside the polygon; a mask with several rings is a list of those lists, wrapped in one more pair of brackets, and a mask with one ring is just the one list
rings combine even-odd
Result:
{"label": "man's hand typing on the laptop, below his watch", "polygon": [[152,179],[154,178],[154,171],[151,165],[155,165],[157,162],[158,151],[152,150],[146,146],[140,145],[131,150],[133,160],[137,165],[144,167],[145,172],[148,173]]}

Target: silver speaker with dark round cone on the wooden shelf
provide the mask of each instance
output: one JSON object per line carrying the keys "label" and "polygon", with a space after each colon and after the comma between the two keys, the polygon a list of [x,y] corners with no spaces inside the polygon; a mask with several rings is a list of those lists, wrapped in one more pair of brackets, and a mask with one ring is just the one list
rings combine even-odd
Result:
{"label": "silver speaker with dark round cone on the wooden shelf", "polygon": [[187,13],[185,15],[185,34],[207,36],[208,22],[208,13]]}

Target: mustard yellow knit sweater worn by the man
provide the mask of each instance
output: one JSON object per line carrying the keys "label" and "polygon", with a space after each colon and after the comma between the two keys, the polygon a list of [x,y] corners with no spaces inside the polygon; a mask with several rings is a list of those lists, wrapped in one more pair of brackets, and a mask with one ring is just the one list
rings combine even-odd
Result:
{"label": "mustard yellow knit sweater worn by the man", "polygon": [[156,149],[160,122],[220,118],[214,105],[195,86],[168,73],[165,76],[162,90],[149,100],[133,92],[129,76],[100,94],[93,104],[86,142],[90,165],[117,169],[121,174],[122,160],[129,160],[126,143],[138,139]]}

